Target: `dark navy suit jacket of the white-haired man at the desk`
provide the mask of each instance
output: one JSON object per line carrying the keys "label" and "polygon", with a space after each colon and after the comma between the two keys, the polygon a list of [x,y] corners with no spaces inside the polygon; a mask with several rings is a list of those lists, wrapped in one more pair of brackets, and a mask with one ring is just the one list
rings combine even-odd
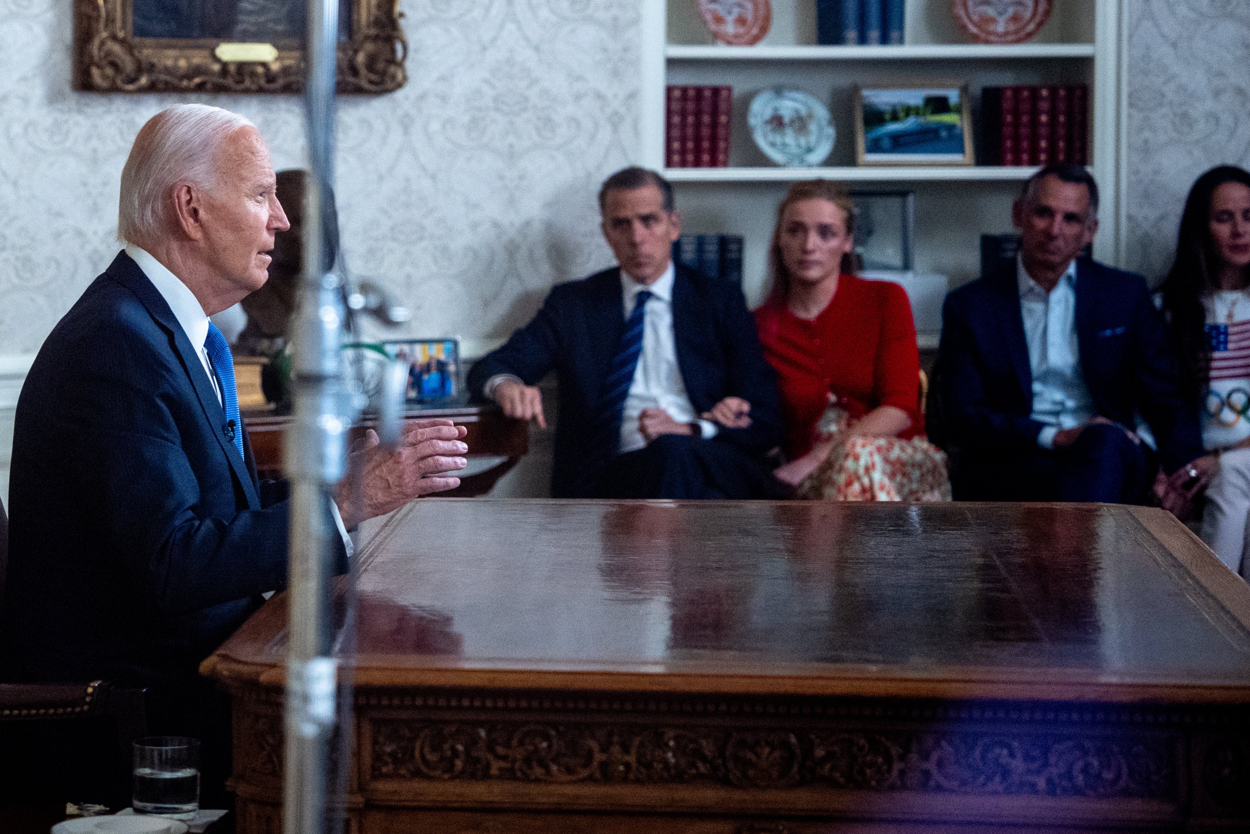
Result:
{"label": "dark navy suit jacket of the white-haired man at the desk", "polygon": [[256,481],[225,421],[178,319],[119,254],[18,400],[5,676],[186,689],[286,585],[285,484]]}

